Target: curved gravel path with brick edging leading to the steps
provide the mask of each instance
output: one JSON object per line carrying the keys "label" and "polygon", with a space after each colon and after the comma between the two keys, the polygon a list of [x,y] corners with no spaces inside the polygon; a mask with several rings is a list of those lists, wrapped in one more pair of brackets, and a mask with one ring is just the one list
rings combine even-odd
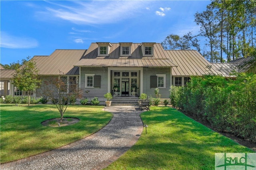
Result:
{"label": "curved gravel path with brick edging leading to the steps", "polygon": [[143,130],[137,107],[106,107],[114,114],[98,132],[61,148],[1,164],[6,170],[90,170],[114,162],[136,143]]}

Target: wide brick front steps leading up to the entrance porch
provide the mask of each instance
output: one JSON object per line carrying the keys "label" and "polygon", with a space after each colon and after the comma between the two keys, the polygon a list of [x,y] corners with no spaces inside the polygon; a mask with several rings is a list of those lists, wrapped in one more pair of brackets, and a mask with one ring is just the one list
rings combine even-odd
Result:
{"label": "wide brick front steps leading up to the entrance porch", "polygon": [[138,106],[138,97],[113,97],[111,106]]}

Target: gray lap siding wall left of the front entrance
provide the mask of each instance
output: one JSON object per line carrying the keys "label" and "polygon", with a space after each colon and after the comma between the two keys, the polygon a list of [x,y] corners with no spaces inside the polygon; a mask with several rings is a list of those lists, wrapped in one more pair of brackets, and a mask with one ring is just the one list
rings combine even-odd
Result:
{"label": "gray lap siding wall left of the front entrance", "polygon": [[[101,76],[100,88],[85,88],[86,78],[85,74],[95,74]],[[99,101],[105,101],[103,95],[108,92],[108,69],[102,67],[81,67],[81,89],[83,91],[83,97],[87,97],[89,100],[93,97],[98,97]],[[85,93],[85,91],[90,91]]]}

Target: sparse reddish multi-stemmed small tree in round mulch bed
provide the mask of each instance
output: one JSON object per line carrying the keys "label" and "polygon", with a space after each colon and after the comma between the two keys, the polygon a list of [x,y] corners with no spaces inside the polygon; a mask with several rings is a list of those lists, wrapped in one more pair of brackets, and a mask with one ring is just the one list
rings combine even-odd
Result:
{"label": "sparse reddish multi-stemmed small tree in round mulch bed", "polygon": [[70,103],[70,99],[80,99],[82,97],[82,90],[78,88],[76,78],[68,77],[60,72],[59,76],[50,77],[44,81],[42,87],[44,96],[52,99],[52,102],[60,112],[60,123],[62,123],[63,115]]}

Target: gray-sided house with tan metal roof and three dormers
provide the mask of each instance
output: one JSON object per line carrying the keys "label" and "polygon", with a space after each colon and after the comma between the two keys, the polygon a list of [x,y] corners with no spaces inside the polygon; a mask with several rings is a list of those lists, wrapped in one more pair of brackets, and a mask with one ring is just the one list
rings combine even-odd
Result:
{"label": "gray-sided house with tan metal roof and three dormers", "polygon": [[[209,63],[198,51],[164,50],[160,43],[154,42],[96,42],[87,50],[56,49],[49,56],[33,59],[43,80],[62,72],[67,92],[77,84],[84,96],[98,97],[101,102],[107,92],[114,97],[138,97],[142,93],[155,97],[155,88],[159,89],[161,99],[167,99],[170,86],[186,85],[191,75],[213,73],[234,77],[230,73],[240,65]],[[13,86],[12,73],[14,70],[1,69],[1,95],[26,95]],[[37,89],[32,97],[40,97],[42,90]]]}

